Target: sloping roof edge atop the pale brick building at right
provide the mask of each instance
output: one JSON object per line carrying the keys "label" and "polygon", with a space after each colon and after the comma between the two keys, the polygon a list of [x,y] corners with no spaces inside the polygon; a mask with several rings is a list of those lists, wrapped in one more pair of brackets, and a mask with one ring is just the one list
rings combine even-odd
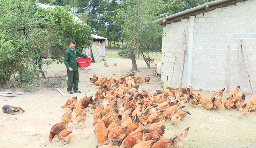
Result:
{"label": "sloping roof edge atop the pale brick building at right", "polygon": [[203,5],[194,7],[194,8],[190,8],[188,10],[185,11],[181,11],[179,13],[164,17],[164,18],[160,18],[156,21],[153,21],[152,23],[156,23],[156,24],[160,24],[160,25],[165,25],[165,24],[169,24],[175,21],[179,21],[183,18],[188,18],[189,16],[195,16],[196,14],[199,13],[203,13],[206,11],[210,11],[216,8],[220,8],[220,7],[224,7],[227,5],[232,5],[235,4],[237,2],[241,2],[241,1],[245,1],[245,0],[216,0],[216,1],[211,1],[208,3],[205,3]]}

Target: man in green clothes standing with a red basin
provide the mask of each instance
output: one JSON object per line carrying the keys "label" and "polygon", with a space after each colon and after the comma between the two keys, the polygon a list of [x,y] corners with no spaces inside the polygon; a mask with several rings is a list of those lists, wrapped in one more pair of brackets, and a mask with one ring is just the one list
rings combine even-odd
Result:
{"label": "man in green clothes standing with a red basin", "polygon": [[80,56],[86,59],[87,56],[85,54],[82,54],[75,48],[76,46],[76,41],[75,40],[70,40],[69,41],[69,47],[65,51],[65,57],[64,57],[64,64],[67,67],[67,72],[68,72],[68,88],[67,91],[69,94],[73,94],[72,92],[72,87],[75,93],[81,93],[81,91],[78,90],[78,80],[79,80],[79,75],[78,75],[78,66],[77,66],[77,61],[76,57]]}

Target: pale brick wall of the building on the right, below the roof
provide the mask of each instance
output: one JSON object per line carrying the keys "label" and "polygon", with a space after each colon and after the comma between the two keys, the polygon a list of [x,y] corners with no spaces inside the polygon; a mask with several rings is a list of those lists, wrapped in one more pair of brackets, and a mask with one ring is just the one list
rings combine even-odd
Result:
{"label": "pale brick wall of the building on the right, below the roof", "polygon": [[[162,77],[165,86],[175,88],[178,80],[182,36],[188,43],[189,19],[185,18],[163,26]],[[191,31],[191,30],[190,30]],[[229,91],[242,85],[241,91],[251,93],[245,62],[242,58],[242,84],[240,84],[239,49],[242,39],[249,68],[256,84],[256,0],[238,2],[195,16],[193,36],[193,66],[191,85],[194,89]],[[187,44],[188,45],[188,44]],[[229,55],[228,55],[229,46]],[[186,49],[188,49],[186,47]],[[187,53],[182,87],[187,86]],[[176,57],[176,62],[174,65]],[[227,60],[228,68],[227,68]],[[173,72],[174,67],[174,72]],[[168,80],[167,80],[168,77]]]}

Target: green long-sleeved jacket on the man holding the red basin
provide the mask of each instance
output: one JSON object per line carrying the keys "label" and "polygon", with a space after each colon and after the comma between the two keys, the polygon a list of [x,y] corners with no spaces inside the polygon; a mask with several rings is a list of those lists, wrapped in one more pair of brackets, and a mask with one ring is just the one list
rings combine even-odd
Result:
{"label": "green long-sleeved jacket on the man holding the red basin", "polygon": [[66,65],[67,69],[69,67],[71,67],[73,69],[72,71],[77,71],[78,66],[77,66],[76,57],[79,56],[79,57],[83,57],[84,59],[86,59],[87,55],[82,54],[81,52],[76,50],[76,48],[74,48],[73,50],[74,51],[72,51],[68,47],[68,49],[65,51],[64,64]]}

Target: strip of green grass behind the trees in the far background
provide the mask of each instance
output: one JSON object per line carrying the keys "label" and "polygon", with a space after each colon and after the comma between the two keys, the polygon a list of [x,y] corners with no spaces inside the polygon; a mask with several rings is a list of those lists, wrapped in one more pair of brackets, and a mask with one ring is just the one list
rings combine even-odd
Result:
{"label": "strip of green grass behind the trees in the far background", "polygon": [[[120,56],[118,56],[118,52],[120,51],[121,49],[111,49],[111,50],[105,50],[105,57],[110,57],[110,58],[118,58]],[[155,59],[156,61],[160,61],[162,55],[160,53],[158,54],[149,54],[149,57],[151,59]],[[137,56],[136,56],[137,58]],[[140,59],[143,59],[143,56],[140,55],[139,56]]]}

